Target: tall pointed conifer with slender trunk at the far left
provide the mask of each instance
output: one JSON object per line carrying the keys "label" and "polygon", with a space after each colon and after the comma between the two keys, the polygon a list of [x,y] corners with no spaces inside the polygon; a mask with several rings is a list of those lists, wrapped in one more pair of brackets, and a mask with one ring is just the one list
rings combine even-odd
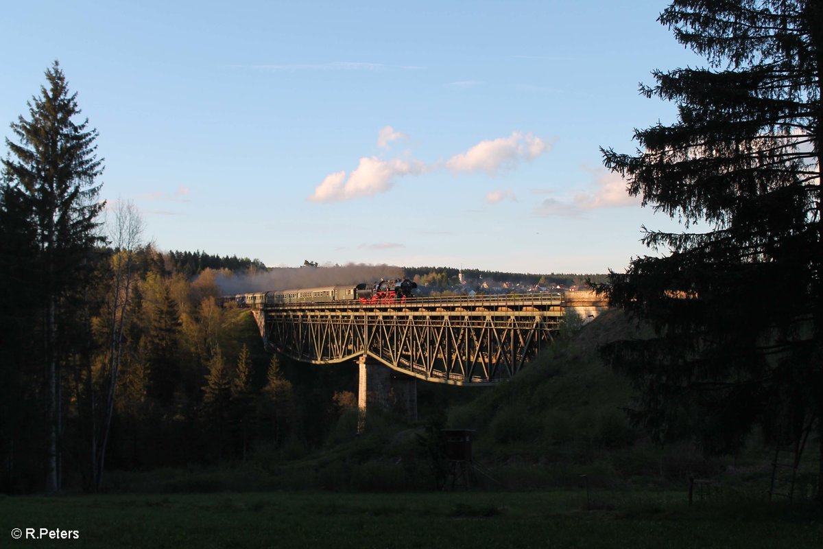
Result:
{"label": "tall pointed conifer with slender trunk at the far left", "polygon": [[[30,119],[11,124],[18,142],[6,139],[10,152],[2,161],[3,178],[26,196],[30,222],[35,227],[37,268],[42,295],[39,309],[44,326],[44,370],[48,415],[46,489],[60,489],[60,384],[59,366],[71,352],[62,341],[61,323],[71,314],[72,298],[82,295],[87,283],[89,255],[102,238],[96,218],[104,204],[97,202],[100,185],[95,179],[103,161],[95,151],[97,131],[81,114],[77,94],[68,91],[58,62],[45,72],[47,86],[28,103]],[[65,338],[67,339],[67,338]]]}

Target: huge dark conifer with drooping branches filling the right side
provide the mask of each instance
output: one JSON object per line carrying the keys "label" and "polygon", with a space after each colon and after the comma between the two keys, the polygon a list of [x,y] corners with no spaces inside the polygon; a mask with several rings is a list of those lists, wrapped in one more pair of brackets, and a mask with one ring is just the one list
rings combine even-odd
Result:
{"label": "huge dark conifer with drooping branches filling the right side", "polygon": [[823,4],[677,0],[659,21],[709,67],[653,72],[641,93],[675,101],[677,122],[635,130],[639,151],[604,162],[686,230],[644,229],[671,253],[601,286],[657,330],[605,354],[661,439],[722,452],[756,424],[777,443],[814,422],[823,435]]}

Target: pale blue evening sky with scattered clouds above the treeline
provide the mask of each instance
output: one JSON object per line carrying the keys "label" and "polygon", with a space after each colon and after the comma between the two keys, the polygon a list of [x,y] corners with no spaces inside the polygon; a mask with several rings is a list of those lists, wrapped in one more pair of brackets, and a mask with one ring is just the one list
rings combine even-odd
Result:
{"label": "pale blue evening sky with scattered clouds above the treeline", "polygon": [[[702,60],[666,2],[2,2],[0,126],[57,59],[101,198],[163,250],[503,272],[623,271],[678,230],[602,166],[676,119]],[[2,155],[7,150],[0,144]]]}

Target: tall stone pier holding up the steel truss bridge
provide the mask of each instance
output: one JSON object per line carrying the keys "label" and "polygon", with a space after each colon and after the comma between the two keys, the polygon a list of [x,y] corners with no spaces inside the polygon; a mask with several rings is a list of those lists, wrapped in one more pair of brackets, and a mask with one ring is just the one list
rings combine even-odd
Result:
{"label": "tall stone pier holding up the steel truss bridge", "polygon": [[365,414],[371,408],[393,408],[407,421],[417,419],[417,384],[410,375],[400,374],[368,356],[357,359],[357,407],[360,410],[358,430],[363,428]]}

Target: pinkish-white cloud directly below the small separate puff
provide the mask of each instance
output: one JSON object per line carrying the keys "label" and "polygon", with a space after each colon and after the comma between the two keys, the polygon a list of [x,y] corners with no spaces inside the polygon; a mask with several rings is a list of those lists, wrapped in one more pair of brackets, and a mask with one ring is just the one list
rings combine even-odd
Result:
{"label": "pinkish-white cloud directly below the small separate puff", "polygon": [[419,174],[424,169],[419,161],[393,159],[384,161],[376,156],[364,156],[346,178],[345,171],[328,174],[314,189],[311,202],[342,202],[351,198],[374,196],[391,188],[394,179]]}

